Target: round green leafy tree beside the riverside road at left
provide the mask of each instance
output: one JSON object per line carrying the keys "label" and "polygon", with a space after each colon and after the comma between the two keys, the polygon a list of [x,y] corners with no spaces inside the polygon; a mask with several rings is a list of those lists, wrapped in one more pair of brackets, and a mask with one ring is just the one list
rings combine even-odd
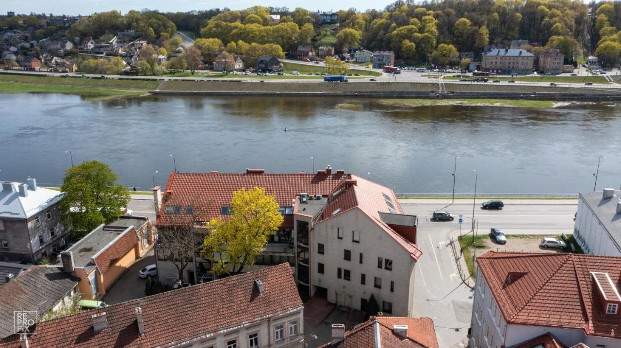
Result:
{"label": "round green leafy tree beside the riverside road at left", "polygon": [[112,222],[122,214],[130,199],[125,186],[104,163],[84,162],[68,169],[60,190],[62,220],[74,238],[84,237],[98,225]]}

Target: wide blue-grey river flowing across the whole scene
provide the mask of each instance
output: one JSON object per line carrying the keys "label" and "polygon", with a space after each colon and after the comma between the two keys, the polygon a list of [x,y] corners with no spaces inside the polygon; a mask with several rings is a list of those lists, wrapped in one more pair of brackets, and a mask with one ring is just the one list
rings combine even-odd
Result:
{"label": "wide blue-grey river flowing across the whole scene", "polygon": [[[341,103],[353,105],[342,108]],[[621,185],[621,104],[404,108],[378,100],[0,94],[0,180],[61,183],[100,160],[127,186],[181,172],[298,172],[332,165],[397,193],[576,193]],[[284,131],[284,129],[287,131]]]}

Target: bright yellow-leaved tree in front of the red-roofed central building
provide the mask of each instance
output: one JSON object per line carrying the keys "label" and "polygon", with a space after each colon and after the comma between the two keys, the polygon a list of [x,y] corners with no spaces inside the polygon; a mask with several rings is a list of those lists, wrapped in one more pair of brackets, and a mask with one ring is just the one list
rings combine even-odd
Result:
{"label": "bright yellow-leaved tree in front of the red-roofed central building", "polygon": [[211,220],[202,244],[201,255],[212,259],[214,274],[239,274],[255,263],[268,237],[283,224],[278,208],[275,195],[266,195],[264,188],[233,192],[232,214]]}

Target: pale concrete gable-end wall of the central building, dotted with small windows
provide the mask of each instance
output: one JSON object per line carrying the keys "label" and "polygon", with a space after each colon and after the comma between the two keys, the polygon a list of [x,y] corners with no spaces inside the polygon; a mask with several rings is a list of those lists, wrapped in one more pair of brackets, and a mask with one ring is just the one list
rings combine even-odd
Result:
{"label": "pale concrete gable-end wall of the central building, dotted with small windows", "polygon": [[[343,229],[343,239],[337,238],[337,228]],[[352,231],[360,232],[360,243],[352,241]],[[311,294],[317,287],[328,289],[328,301],[345,300],[347,307],[360,310],[360,300],[368,300],[371,294],[378,301],[392,303],[392,315],[412,316],[414,297],[414,259],[410,254],[379,227],[368,215],[355,208],[335,215],[314,225],[311,230]],[[317,253],[317,243],[324,244],[324,254]],[[344,250],[351,251],[351,261],[343,259]],[[363,253],[363,263],[359,255]],[[378,268],[378,257],[392,259],[392,271]],[[384,261],[383,261],[384,262]],[[324,274],[317,272],[317,263],[324,264]],[[351,280],[337,278],[337,268],[348,269]],[[366,284],[360,282],[361,274]],[[381,289],[374,287],[374,277],[382,279]],[[390,282],[394,282],[394,292]],[[337,303],[342,305],[342,303]]]}

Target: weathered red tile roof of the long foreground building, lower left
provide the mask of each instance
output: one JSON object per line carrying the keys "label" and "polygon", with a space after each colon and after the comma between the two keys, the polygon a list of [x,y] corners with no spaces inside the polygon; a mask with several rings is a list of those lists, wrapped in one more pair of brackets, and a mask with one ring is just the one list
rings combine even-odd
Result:
{"label": "weathered red tile roof of the long foreground building, lower left", "polygon": [[[263,282],[258,295],[255,279]],[[142,309],[145,335],[140,336],[134,310]],[[156,347],[214,333],[299,308],[302,301],[289,264],[84,311],[37,327],[30,347]],[[94,333],[91,315],[106,312],[108,328]],[[13,335],[0,348],[20,347]]]}

